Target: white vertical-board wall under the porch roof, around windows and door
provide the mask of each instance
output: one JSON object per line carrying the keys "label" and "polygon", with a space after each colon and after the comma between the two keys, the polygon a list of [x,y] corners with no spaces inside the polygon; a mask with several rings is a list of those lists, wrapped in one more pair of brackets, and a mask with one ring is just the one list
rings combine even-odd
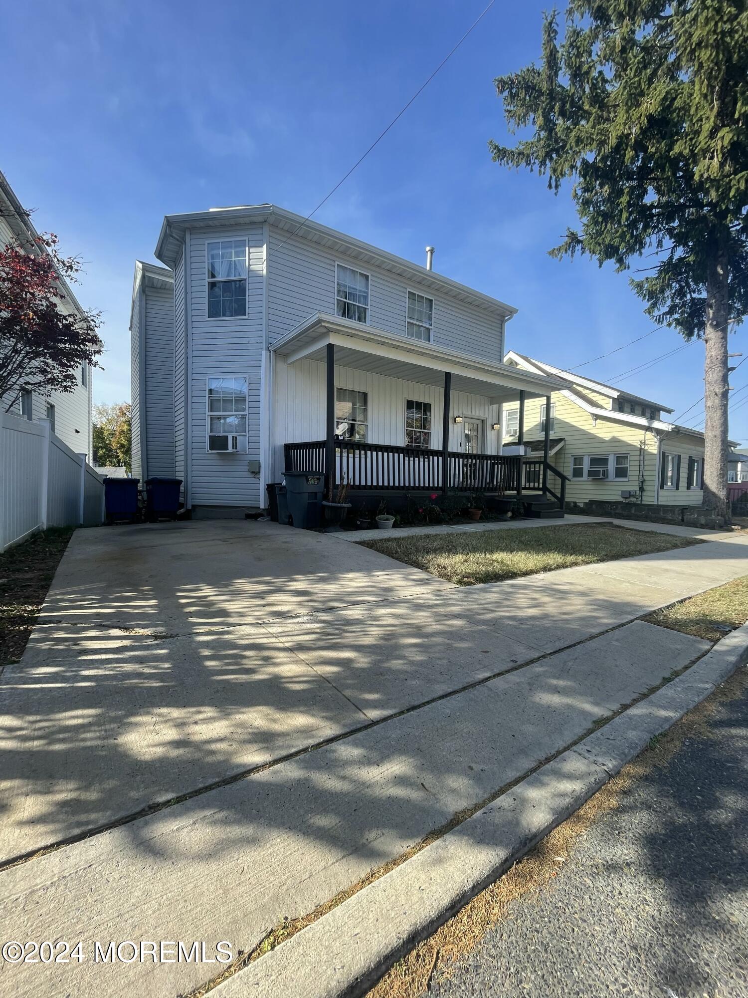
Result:
{"label": "white vertical-board wall under the porch roof, around windows and door", "polygon": [[[325,365],[316,360],[286,364],[274,357],[273,411],[271,422],[271,481],[279,481],[283,472],[283,444],[303,440],[322,440],[325,435]],[[405,381],[370,371],[335,365],[335,386],[368,392],[369,443],[405,444],[405,401],[408,398],[431,402],[432,447],[442,446],[442,388]],[[498,453],[499,434],[491,424],[499,419],[499,406],[482,395],[453,391],[450,402],[450,450],[464,449],[465,424],[454,417],[468,413],[485,420],[484,451]]]}

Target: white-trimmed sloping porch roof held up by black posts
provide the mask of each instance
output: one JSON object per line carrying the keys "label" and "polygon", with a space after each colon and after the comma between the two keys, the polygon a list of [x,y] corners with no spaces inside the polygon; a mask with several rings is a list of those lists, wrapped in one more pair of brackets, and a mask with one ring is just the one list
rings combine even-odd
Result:
{"label": "white-trimmed sloping porch roof held up by black posts", "polygon": [[328,343],[335,346],[335,363],[387,377],[441,386],[452,374],[452,390],[489,396],[492,402],[539,398],[570,387],[564,378],[535,374],[504,363],[491,363],[420,339],[398,336],[350,319],[316,312],[270,347],[286,363],[325,359]]}

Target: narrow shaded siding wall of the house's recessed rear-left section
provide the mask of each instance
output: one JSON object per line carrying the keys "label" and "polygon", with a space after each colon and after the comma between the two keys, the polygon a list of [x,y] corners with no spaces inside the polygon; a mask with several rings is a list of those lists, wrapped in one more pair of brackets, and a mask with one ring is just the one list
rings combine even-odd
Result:
{"label": "narrow shaded siding wall of the house's recessed rear-left section", "polygon": [[171,478],[175,474],[174,350],[174,292],[149,287],[146,290],[145,403],[149,477]]}

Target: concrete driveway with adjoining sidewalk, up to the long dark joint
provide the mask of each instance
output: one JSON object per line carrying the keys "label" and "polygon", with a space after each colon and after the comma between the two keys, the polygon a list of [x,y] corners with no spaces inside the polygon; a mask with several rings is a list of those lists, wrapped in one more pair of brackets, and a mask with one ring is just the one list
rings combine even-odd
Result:
{"label": "concrete driveway with adjoining sidewalk, up to the long dark joint", "polygon": [[514,670],[743,574],[745,554],[461,589],[270,523],[77,531],[0,680],[0,861]]}

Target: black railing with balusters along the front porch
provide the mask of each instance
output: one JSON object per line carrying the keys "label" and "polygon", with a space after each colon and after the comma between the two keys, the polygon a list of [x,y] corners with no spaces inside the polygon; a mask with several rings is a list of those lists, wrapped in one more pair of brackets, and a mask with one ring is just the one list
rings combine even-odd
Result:
{"label": "black railing with balusters along the front porch", "polygon": [[[326,475],[325,441],[287,443],[284,446],[288,471],[314,471]],[[442,489],[444,455],[441,450],[397,447],[383,443],[335,441],[334,480],[347,482],[351,489],[403,491]],[[537,459],[504,454],[447,454],[446,488],[456,492],[499,492],[522,495],[523,492],[548,492],[563,508],[566,476]],[[556,476],[559,492],[548,484]]]}

